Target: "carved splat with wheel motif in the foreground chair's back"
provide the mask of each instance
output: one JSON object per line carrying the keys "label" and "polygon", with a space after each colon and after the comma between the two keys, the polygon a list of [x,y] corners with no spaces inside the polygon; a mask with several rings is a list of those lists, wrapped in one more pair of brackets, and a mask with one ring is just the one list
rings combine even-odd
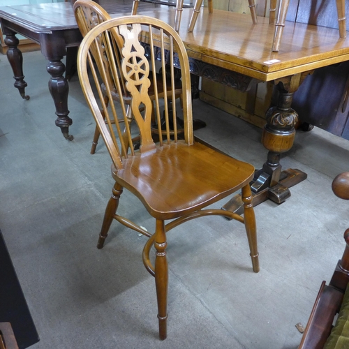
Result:
{"label": "carved splat with wheel motif in the foreground chair's back", "polygon": [[[144,47],[140,45],[138,36],[142,28],[140,24],[132,27],[121,25],[119,33],[124,37],[125,43],[122,49],[122,72],[126,80],[126,89],[131,93],[131,108],[135,121],[140,128],[141,145],[140,152],[144,153],[155,149],[155,143],[151,137],[151,99],[148,95],[150,87],[149,62],[145,57]],[[144,117],[140,113],[140,106],[144,105]]]}

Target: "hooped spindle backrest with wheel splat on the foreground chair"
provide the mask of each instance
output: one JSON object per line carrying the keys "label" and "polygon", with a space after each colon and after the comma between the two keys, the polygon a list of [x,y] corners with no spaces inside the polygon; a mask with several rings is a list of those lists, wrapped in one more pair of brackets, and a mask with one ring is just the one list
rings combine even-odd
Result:
{"label": "hooped spindle backrest with wheel splat on the foreground chair", "polygon": [[[117,45],[119,38],[123,40],[122,48]],[[119,55],[121,59],[117,59]],[[175,59],[179,61],[181,67],[183,112],[174,103]],[[110,67],[110,74],[103,68],[105,61]],[[158,74],[161,75],[161,79],[158,79],[157,74],[154,73],[157,73],[159,65],[161,68]],[[91,73],[88,72],[88,66]],[[184,121],[184,139],[187,144],[193,144],[188,55],[184,43],[170,25],[145,16],[120,17],[103,22],[91,29],[82,40],[77,69],[82,91],[116,168],[123,168],[123,161],[126,158],[139,153],[145,156],[156,151],[156,140],[151,134],[151,121],[154,119],[158,128],[159,147],[168,147],[179,141],[177,116],[180,114]],[[149,75],[150,71],[153,72],[151,75]],[[107,107],[103,98],[106,94],[112,101],[114,89],[117,94],[121,94],[123,79],[126,81],[128,93],[131,94],[131,109],[140,133],[139,151],[134,151],[133,147],[128,151],[128,144],[132,144],[131,129],[126,122],[127,112],[124,100],[121,98],[117,105],[110,103]],[[167,91],[161,97],[158,96],[158,84],[162,84],[163,91]],[[154,102],[149,97],[150,85],[154,90],[151,91]],[[101,86],[105,86],[105,91]],[[163,98],[161,103],[160,98]],[[172,110],[169,112],[168,106],[172,101]],[[125,121],[125,130],[121,130],[119,119]],[[115,123],[114,127],[113,123]],[[173,132],[170,130],[170,124],[173,124]],[[165,128],[165,135],[161,132],[164,131],[163,128]]]}

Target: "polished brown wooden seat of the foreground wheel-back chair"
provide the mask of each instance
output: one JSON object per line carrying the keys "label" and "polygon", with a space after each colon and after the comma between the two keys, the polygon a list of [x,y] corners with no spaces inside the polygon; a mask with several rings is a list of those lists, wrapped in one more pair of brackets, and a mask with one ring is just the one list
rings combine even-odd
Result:
{"label": "polished brown wooden seat of the foreground wheel-back chair", "polygon": [[138,154],[124,160],[123,165],[123,170],[112,168],[112,177],[135,193],[151,216],[163,219],[177,218],[221,200],[248,184],[254,174],[248,163],[199,142],[188,147],[184,140],[175,147],[156,147],[151,156]]}

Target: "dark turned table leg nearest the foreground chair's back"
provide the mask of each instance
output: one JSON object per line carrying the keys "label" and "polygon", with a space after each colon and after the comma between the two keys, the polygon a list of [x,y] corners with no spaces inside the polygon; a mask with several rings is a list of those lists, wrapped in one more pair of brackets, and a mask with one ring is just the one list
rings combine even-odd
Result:
{"label": "dark turned table leg nearest the foreground chair's back", "polygon": [[[61,57],[63,58],[63,57]],[[56,107],[56,126],[61,128],[61,131],[66,140],[73,140],[73,135],[69,135],[69,126],[73,124],[73,120],[68,117],[68,93],[69,85],[64,72],[66,67],[59,58],[48,58],[47,72],[50,73],[51,78],[48,82],[51,96]]]}

